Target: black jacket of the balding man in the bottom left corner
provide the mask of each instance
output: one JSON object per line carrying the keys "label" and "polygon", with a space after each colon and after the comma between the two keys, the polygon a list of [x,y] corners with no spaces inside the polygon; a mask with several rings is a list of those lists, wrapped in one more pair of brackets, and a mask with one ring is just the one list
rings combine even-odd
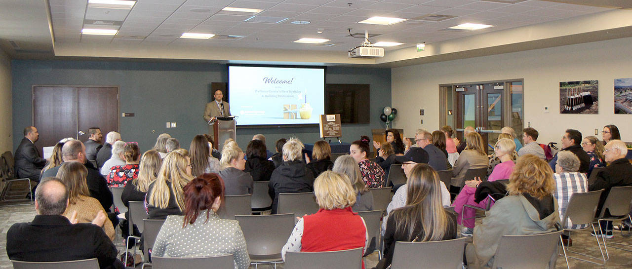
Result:
{"label": "black jacket of the balding man in the bottom left corner", "polygon": [[103,229],[94,224],[70,224],[62,215],[36,215],[32,222],[13,224],[6,234],[6,252],[9,259],[18,261],[97,258],[101,269],[123,268]]}

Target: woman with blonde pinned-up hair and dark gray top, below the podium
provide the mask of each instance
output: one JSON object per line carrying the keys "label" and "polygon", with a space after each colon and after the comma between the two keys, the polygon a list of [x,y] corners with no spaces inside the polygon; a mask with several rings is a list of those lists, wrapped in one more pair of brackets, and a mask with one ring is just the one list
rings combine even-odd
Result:
{"label": "woman with blonde pinned-up hair and dark gray top, below the podium", "polygon": [[224,180],[226,195],[252,194],[254,184],[252,176],[243,171],[246,165],[243,156],[241,148],[237,146],[235,141],[230,141],[224,145],[222,159],[219,161],[224,169],[219,172],[219,176]]}

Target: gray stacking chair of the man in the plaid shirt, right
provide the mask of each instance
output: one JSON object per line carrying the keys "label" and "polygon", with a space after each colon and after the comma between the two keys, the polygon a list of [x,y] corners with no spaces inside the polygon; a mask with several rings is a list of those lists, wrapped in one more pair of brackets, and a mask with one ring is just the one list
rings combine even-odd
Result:
{"label": "gray stacking chair of the man in the plaid shirt, right", "polygon": [[[568,201],[568,205],[566,205],[566,210],[564,211],[564,216],[562,216],[562,228],[568,232],[569,236],[573,230],[586,230],[592,227],[593,232],[595,231],[594,219],[595,212],[597,211],[597,205],[599,204],[599,196],[604,192],[603,189],[599,191],[588,191],[587,193],[573,193],[571,195],[571,199]],[[566,229],[566,225],[569,220],[573,225],[586,225],[585,228],[582,229]],[[590,224],[590,225],[588,225]],[[595,263],[594,261],[583,260],[578,257],[568,256],[566,251],[568,246],[564,246],[562,243],[562,251],[564,253],[564,259],[566,259],[566,266],[570,269],[571,266],[568,264],[568,258],[573,258],[580,261],[587,261],[589,263],[594,263],[595,265],[605,265],[606,258],[604,256],[604,251],[601,249],[601,242],[599,242],[599,237],[595,236],[597,240],[597,246],[599,247],[599,251],[601,251],[602,258],[599,259],[597,257],[593,257],[587,255],[585,253],[578,253],[576,251],[568,250],[571,253],[580,254],[582,256],[586,256],[588,258],[593,258],[595,260],[600,260],[602,263]],[[560,236],[560,242],[562,242],[562,237]],[[603,242],[603,239],[602,239]]]}

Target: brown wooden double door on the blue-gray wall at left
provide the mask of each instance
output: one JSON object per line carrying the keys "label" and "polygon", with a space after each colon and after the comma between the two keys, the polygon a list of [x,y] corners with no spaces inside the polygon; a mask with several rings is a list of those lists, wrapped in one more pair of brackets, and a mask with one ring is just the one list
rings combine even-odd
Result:
{"label": "brown wooden double door on the blue-gray wall at left", "polygon": [[119,131],[118,87],[33,86],[33,126],[39,148],[62,138],[88,139],[88,128],[98,127],[103,140]]}

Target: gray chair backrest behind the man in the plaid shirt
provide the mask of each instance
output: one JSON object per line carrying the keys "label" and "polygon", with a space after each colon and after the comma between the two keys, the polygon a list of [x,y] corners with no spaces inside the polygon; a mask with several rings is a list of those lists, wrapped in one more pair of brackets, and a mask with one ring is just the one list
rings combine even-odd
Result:
{"label": "gray chair backrest behind the man in the plaid shirt", "polygon": [[564,216],[562,216],[562,227],[566,227],[568,220],[571,220],[573,225],[593,222],[599,204],[599,196],[602,192],[604,192],[603,189],[588,191],[587,193],[573,193],[566,205]]}

